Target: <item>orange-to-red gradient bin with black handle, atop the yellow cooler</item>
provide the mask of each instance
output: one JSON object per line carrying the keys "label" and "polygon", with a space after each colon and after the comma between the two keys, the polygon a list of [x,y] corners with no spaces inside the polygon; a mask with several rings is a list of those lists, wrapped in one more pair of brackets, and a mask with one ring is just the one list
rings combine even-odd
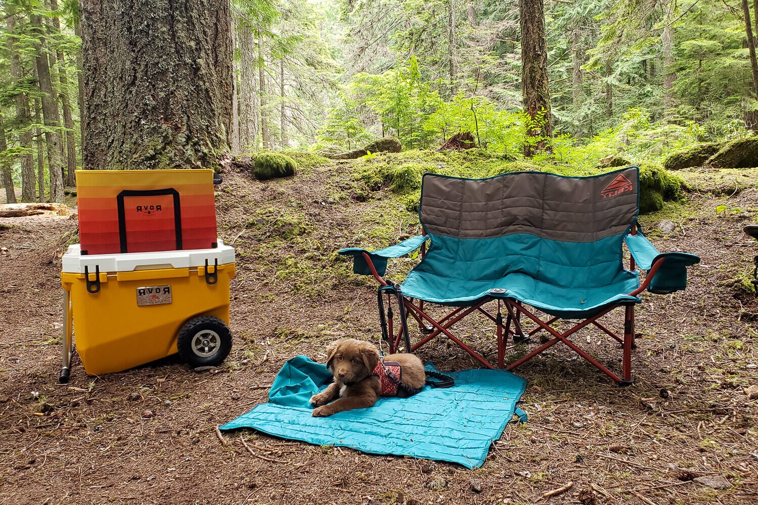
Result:
{"label": "orange-to-red gradient bin with black handle, atop the yellow cooler", "polygon": [[213,170],[77,170],[80,254],[218,247]]}

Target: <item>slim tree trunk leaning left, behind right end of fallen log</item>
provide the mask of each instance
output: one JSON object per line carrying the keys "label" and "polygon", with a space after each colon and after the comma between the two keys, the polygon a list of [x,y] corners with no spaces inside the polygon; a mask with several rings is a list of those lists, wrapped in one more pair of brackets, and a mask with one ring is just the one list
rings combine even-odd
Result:
{"label": "slim tree trunk leaning left, behind right end of fallen log", "polygon": [[48,172],[50,175],[50,199],[63,203],[63,160],[61,157],[61,137],[58,131],[61,127],[61,114],[58,111],[58,101],[55,100],[55,92],[52,89],[50,79],[50,66],[48,55],[45,53],[45,33],[42,30],[42,16],[30,15],[31,24],[34,27],[39,42],[36,42],[36,69],[39,79],[39,91],[42,92],[42,117],[45,120],[45,140],[48,149]]}

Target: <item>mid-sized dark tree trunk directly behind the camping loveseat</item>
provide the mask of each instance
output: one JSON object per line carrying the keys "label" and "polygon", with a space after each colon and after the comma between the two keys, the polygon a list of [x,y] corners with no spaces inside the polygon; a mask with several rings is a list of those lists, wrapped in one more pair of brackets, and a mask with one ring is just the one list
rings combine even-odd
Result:
{"label": "mid-sized dark tree trunk directly behind the camping loveseat", "polygon": [[522,36],[522,93],[524,111],[531,117],[528,137],[540,137],[524,143],[524,155],[550,150],[553,117],[550,115],[550,90],[547,86],[547,39],[543,0],[518,0]]}

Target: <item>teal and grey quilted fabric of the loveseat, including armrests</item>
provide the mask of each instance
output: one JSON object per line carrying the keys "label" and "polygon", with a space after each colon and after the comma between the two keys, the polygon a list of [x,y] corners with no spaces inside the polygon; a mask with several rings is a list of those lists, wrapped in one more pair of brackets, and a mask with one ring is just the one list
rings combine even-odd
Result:
{"label": "teal and grey quilted fabric of the loveseat, including armrests", "polygon": [[650,291],[686,287],[686,267],[700,258],[659,254],[640,233],[630,235],[638,209],[637,167],[589,177],[518,172],[463,179],[426,173],[419,217],[428,235],[378,251],[348,248],[340,254],[354,257],[356,273],[370,275],[362,256],[368,253],[382,276],[387,258],[429,240],[424,258],[402,282],[403,295],[456,307],[486,296],[513,298],[575,319],[611,304],[640,302],[629,295],[640,279],[623,266],[625,239],[642,270],[665,258]]}

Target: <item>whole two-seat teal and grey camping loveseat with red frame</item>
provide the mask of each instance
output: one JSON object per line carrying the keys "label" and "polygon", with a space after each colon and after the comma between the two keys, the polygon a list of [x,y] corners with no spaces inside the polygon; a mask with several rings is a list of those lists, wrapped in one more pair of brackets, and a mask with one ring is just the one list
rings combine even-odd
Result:
{"label": "whole two-seat teal and grey camping loveseat with red frame", "polygon": [[[645,289],[659,294],[684,289],[687,267],[700,261],[694,254],[656,251],[638,229],[638,209],[637,167],[590,177],[518,172],[462,179],[426,173],[418,209],[423,235],[378,251],[349,248],[340,254],[353,257],[355,273],[373,275],[379,282],[383,338],[390,351],[399,347],[401,336],[406,350],[415,351],[442,334],[493,368],[451,331],[465,316],[480,313],[496,325],[499,368],[505,366],[509,336],[526,339],[545,331],[549,341],[506,368],[515,369],[562,342],[619,385],[629,385],[639,295]],[[624,243],[631,252],[630,270],[623,264]],[[384,278],[388,258],[419,247],[421,262],[402,284]],[[647,272],[642,283],[637,268]],[[392,305],[385,313],[383,296],[398,301],[401,324],[396,332]],[[437,320],[424,302],[453,310]],[[496,304],[495,314],[485,307],[490,302]],[[598,321],[616,307],[624,307],[623,336]],[[409,340],[406,316],[426,334],[415,344]],[[525,320],[536,326],[525,330]],[[559,331],[551,326],[558,320],[578,322]],[[588,325],[622,344],[621,376],[569,339]]]}

